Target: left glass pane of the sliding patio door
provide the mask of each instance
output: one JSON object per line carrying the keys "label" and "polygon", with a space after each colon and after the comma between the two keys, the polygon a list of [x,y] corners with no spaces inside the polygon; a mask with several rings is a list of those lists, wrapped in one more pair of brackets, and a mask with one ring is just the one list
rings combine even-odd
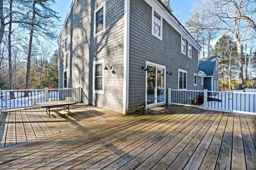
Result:
{"label": "left glass pane of the sliding patio door", "polygon": [[147,104],[155,103],[155,79],[156,79],[156,67],[148,66],[148,87],[147,87]]}

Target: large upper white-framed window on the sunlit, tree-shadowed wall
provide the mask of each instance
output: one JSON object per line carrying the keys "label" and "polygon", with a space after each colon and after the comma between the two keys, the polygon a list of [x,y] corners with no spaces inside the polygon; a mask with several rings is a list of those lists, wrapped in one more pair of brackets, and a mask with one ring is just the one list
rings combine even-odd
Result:
{"label": "large upper white-framed window on the sunlit, tree-shadowed wall", "polygon": [[106,24],[106,2],[103,2],[96,10],[94,10],[94,36],[105,31]]}

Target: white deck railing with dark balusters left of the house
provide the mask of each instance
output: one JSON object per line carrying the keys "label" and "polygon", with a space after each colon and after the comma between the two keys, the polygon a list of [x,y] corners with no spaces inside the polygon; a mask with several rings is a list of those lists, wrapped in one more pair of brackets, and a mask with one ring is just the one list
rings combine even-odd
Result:
{"label": "white deck railing with dark balusters left of the house", "polygon": [[81,88],[0,90],[0,110],[36,107],[41,102],[63,100],[80,103]]}

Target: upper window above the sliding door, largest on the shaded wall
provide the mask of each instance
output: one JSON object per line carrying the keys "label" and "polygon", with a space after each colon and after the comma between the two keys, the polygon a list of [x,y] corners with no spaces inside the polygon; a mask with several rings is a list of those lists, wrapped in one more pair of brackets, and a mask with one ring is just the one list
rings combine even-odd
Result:
{"label": "upper window above the sliding door, largest on the shaded wall", "polygon": [[162,40],[162,17],[152,9],[152,34]]}

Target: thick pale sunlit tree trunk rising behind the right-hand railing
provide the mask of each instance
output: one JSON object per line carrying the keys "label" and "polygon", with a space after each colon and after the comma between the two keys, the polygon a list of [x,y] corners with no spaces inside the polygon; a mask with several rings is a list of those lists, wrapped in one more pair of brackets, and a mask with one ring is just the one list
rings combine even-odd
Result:
{"label": "thick pale sunlit tree trunk rising behind the right-hand railing", "polygon": [[243,59],[242,59],[242,45],[239,41],[236,42],[238,53],[238,86],[237,90],[243,89]]}

